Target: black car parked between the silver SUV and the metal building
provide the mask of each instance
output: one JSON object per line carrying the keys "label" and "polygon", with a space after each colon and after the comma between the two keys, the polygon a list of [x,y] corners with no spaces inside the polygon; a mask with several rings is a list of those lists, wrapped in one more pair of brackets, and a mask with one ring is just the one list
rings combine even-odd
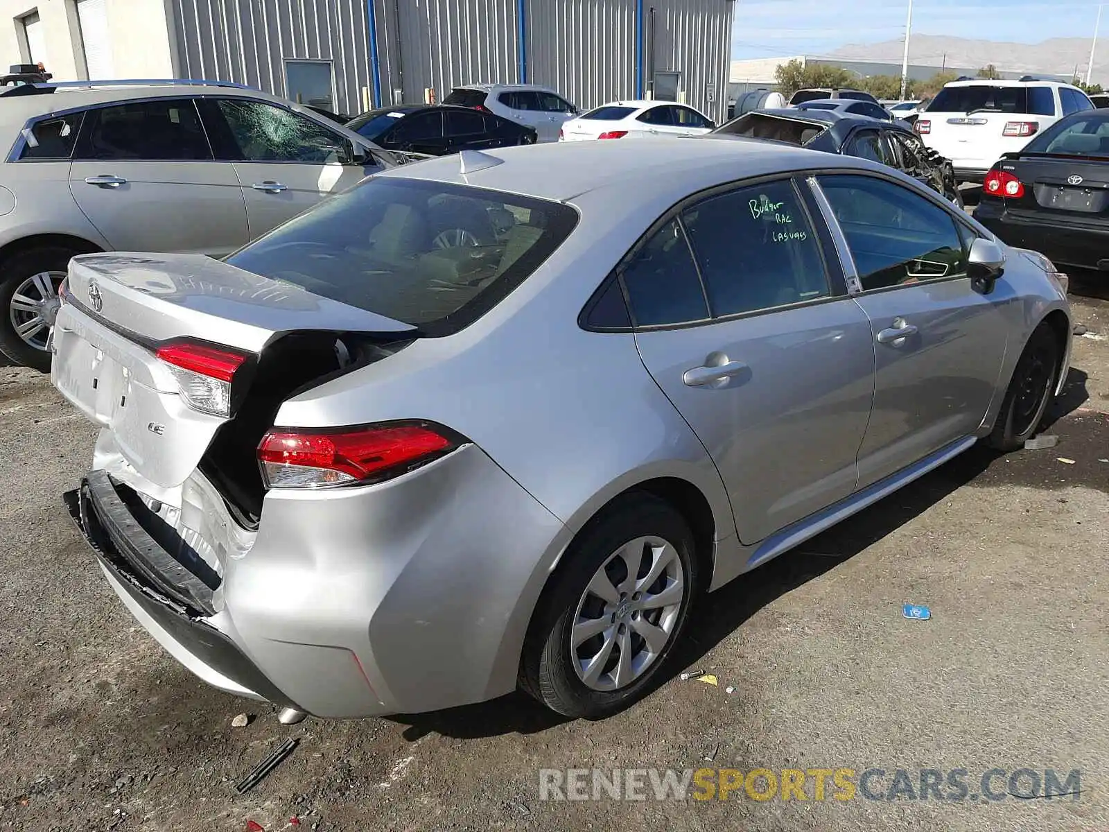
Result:
{"label": "black car parked between the silver SUV and the metal building", "polygon": [[535,144],[537,139],[529,126],[450,104],[383,106],[347,122],[347,128],[386,150],[431,156]]}

